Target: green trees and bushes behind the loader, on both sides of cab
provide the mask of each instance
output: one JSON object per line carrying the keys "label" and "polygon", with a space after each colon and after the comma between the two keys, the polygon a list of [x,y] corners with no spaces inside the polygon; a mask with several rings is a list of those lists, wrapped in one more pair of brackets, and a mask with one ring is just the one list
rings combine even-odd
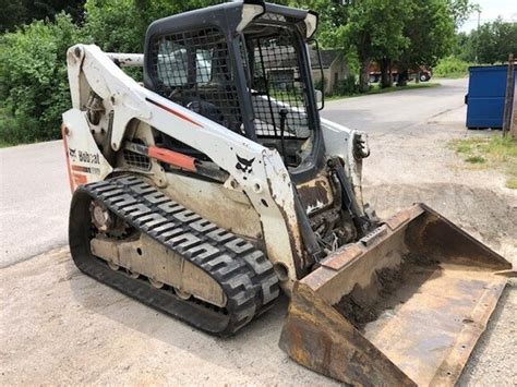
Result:
{"label": "green trees and bushes behind the loader, on both sides of cab", "polygon": [[[59,136],[60,114],[70,105],[68,47],[95,43],[105,51],[142,52],[145,31],[154,20],[224,2],[1,1],[5,4],[0,14],[0,144]],[[460,50],[455,29],[472,11],[469,0],[351,0],[348,5],[342,0],[274,2],[320,13],[317,39],[324,48],[342,50],[362,92],[369,88],[372,61],[381,65],[382,85],[389,86],[394,63],[404,83],[407,71],[433,66],[440,58]]]}

